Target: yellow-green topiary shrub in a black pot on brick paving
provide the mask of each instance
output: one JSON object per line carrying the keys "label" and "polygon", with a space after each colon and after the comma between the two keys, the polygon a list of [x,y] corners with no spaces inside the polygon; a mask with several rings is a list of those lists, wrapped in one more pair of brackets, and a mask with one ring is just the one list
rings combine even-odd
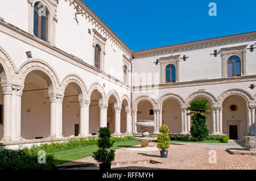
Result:
{"label": "yellow-green topiary shrub in a black pot on brick paving", "polygon": [[167,158],[168,148],[170,147],[170,136],[166,134],[170,129],[166,124],[162,125],[159,129],[161,134],[158,135],[158,149],[160,149],[161,158]]}

